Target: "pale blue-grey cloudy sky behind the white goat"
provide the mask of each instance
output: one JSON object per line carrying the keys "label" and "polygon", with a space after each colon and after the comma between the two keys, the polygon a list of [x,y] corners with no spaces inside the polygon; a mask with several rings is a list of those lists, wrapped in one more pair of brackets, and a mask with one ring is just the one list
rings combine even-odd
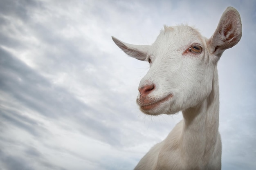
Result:
{"label": "pale blue-grey cloudy sky behind the white goat", "polygon": [[141,113],[149,64],[111,36],[150,45],[188,24],[210,38],[228,6],[243,35],[218,63],[222,170],[255,170],[255,0],[0,0],[0,170],[132,170],[182,114]]}

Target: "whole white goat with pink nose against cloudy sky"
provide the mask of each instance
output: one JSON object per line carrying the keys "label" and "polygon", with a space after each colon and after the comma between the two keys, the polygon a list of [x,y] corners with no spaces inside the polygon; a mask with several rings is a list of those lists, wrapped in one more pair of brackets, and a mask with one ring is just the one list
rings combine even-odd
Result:
{"label": "whole white goat with pink nose against cloudy sky", "polygon": [[217,62],[242,36],[238,11],[228,7],[210,39],[190,26],[164,26],[151,45],[132,45],[112,37],[126,54],[148,61],[137,104],[148,115],[182,111],[164,141],[139,161],[135,170],[220,170]]}

